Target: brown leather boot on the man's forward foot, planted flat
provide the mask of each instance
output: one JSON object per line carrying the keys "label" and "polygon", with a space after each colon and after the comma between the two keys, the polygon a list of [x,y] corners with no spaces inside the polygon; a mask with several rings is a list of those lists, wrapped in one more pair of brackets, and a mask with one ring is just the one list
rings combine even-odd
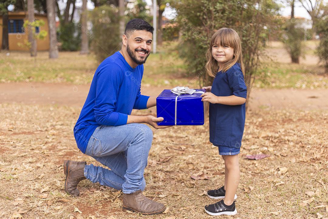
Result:
{"label": "brown leather boot on the man's forward foot, planted flat", "polygon": [[123,193],[123,209],[152,215],[162,213],[166,207],[162,203],[150,200],[142,194],[141,190],[138,190],[131,194]]}

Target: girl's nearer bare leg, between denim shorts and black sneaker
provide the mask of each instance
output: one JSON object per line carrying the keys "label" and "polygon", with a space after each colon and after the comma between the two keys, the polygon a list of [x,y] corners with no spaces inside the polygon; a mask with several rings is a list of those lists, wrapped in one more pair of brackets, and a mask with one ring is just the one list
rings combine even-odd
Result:
{"label": "girl's nearer bare leg, between denim shorts and black sneaker", "polygon": [[237,155],[223,155],[225,164],[225,198],[224,204],[232,205],[234,197],[238,188],[240,171],[238,154]]}

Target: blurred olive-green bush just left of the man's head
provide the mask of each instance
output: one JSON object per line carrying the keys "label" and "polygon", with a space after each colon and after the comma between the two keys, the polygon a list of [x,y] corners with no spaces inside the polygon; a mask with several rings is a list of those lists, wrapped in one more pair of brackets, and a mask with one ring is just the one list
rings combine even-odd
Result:
{"label": "blurred olive-green bush just left of the man's head", "polygon": [[99,62],[121,49],[119,18],[118,9],[108,5],[96,7],[89,13],[89,20],[92,22],[90,50]]}

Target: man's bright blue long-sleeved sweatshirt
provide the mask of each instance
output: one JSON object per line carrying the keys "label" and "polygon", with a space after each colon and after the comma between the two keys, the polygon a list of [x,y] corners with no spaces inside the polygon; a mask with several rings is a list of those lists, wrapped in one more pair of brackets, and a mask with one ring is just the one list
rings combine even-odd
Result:
{"label": "man's bright blue long-sleeved sweatshirt", "polygon": [[83,153],[98,126],[124,125],[132,109],[147,108],[149,97],[140,93],[143,70],[143,65],[132,68],[119,52],[98,66],[74,126],[75,141]]}

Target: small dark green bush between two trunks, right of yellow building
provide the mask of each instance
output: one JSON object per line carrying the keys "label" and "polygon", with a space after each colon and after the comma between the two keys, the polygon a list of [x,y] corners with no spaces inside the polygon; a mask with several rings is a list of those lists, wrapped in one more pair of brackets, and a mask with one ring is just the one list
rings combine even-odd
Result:
{"label": "small dark green bush between two trunks, right of yellow building", "polygon": [[60,50],[62,51],[78,51],[81,46],[81,29],[78,24],[60,22],[57,30],[58,42],[61,43]]}

